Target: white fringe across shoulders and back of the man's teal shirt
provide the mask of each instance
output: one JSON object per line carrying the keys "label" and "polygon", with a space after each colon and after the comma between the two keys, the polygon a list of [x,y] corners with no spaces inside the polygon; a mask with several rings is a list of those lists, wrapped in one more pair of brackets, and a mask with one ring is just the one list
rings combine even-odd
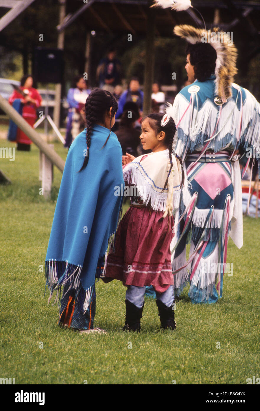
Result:
{"label": "white fringe across shoulders and back of the man's teal shirt", "polygon": [[[219,124],[208,145],[208,150],[218,152],[228,144],[233,145],[233,147],[238,147],[240,144],[244,150],[250,145],[255,148],[259,147],[260,105],[248,90],[241,89],[235,83],[233,83],[233,86],[237,89],[236,100],[235,102],[231,99],[228,100],[221,111]],[[246,104],[241,105],[243,91]],[[240,109],[237,106],[238,97],[240,99]],[[175,106],[168,104],[166,113],[175,120],[178,115],[182,118],[182,113],[187,111],[188,104],[189,102],[185,96],[178,95]],[[189,105],[189,113],[192,113],[194,98],[192,98]],[[201,150],[201,147],[210,139],[214,131],[217,113],[218,108],[214,102],[208,99],[200,110],[196,108],[196,116],[194,115],[194,119],[191,120],[192,123],[185,121],[185,118],[182,119],[178,127],[178,147],[176,147],[178,155],[183,156],[185,150],[189,150],[189,152]],[[260,164],[260,159],[258,159],[258,162]]]}

